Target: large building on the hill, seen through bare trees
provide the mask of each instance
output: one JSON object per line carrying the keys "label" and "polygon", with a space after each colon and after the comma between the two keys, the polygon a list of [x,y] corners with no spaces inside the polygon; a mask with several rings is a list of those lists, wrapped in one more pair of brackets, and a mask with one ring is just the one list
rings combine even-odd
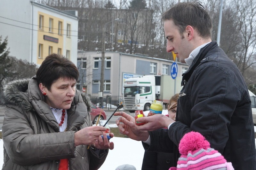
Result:
{"label": "large building on the hill, seen through bare trees", "polygon": [[[154,28],[153,12],[149,9],[84,8],[84,12],[79,15],[78,39],[79,41],[100,42],[102,30],[105,27],[106,42],[151,44],[150,38],[145,38],[145,35],[151,36]],[[117,47],[116,49],[118,50]]]}

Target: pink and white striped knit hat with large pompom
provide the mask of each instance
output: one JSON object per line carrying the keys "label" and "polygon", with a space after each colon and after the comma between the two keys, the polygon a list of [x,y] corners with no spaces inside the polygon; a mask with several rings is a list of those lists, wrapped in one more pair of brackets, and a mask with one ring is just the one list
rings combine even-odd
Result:
{"label": "pink and white striped knit hat with large pompom", "polygon": [[169,170],[234,170],[232,163],[227,162],[218,151],[210,148],[210,143],[198,132],[185,134],[180,140],[179,151],[181,156],[177,168],[171,167]]}

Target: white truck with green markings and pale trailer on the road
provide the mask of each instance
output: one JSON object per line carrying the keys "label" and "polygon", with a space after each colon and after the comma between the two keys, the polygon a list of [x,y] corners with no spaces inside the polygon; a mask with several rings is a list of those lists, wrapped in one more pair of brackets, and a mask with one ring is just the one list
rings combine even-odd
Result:
{"label": "white truck with green markings and pale trailer on the road", "polygon": [[[124,110],[148,111],[153,100],[167,104],[170,98],[181,90],[182,77],[172,79],[170,75],[144,75],[124,81]],[[176,86],[175,86],[176,84]]]}

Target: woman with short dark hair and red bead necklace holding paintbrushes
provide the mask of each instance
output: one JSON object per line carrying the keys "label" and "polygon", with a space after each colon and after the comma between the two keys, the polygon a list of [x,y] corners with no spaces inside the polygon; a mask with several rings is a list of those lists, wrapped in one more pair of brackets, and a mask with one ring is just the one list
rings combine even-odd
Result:
{"label": "woman with short dark hair and red bead necklace holding paintbrushes", "polygon": [[3,170],[89,170],[103,164],[114,144],[100,136],[104,127],[92,126],[91,100],[76,89],[78,77],[74,63],[52,54],[36,76],[4,87]]}

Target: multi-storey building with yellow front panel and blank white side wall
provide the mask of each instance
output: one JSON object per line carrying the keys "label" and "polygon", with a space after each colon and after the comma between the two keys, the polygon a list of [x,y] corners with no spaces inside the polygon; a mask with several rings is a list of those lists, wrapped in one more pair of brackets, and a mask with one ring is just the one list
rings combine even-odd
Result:
{"label": "multi-storey building with yellow front panel and blank white side wall", "polygon": [[0,35],[8,36],[10,55],[41,65],[51,53],[72,62],[77,59],[77,11],[60,11],[25,0],[4,0],[0,5]]}

